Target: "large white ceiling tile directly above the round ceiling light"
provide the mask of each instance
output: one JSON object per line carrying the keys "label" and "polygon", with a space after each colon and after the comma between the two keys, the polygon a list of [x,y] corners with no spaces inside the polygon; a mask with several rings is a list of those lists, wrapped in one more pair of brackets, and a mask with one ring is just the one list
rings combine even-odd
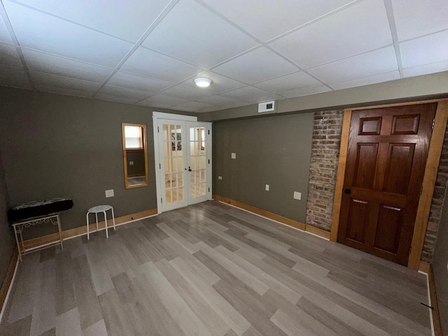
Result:
{"label": "large white ceiling tile directly above the round ceiling light", "polygon": [[258,43],[198,3],[183,0],[151,32],[143,45],[210,68]]}

